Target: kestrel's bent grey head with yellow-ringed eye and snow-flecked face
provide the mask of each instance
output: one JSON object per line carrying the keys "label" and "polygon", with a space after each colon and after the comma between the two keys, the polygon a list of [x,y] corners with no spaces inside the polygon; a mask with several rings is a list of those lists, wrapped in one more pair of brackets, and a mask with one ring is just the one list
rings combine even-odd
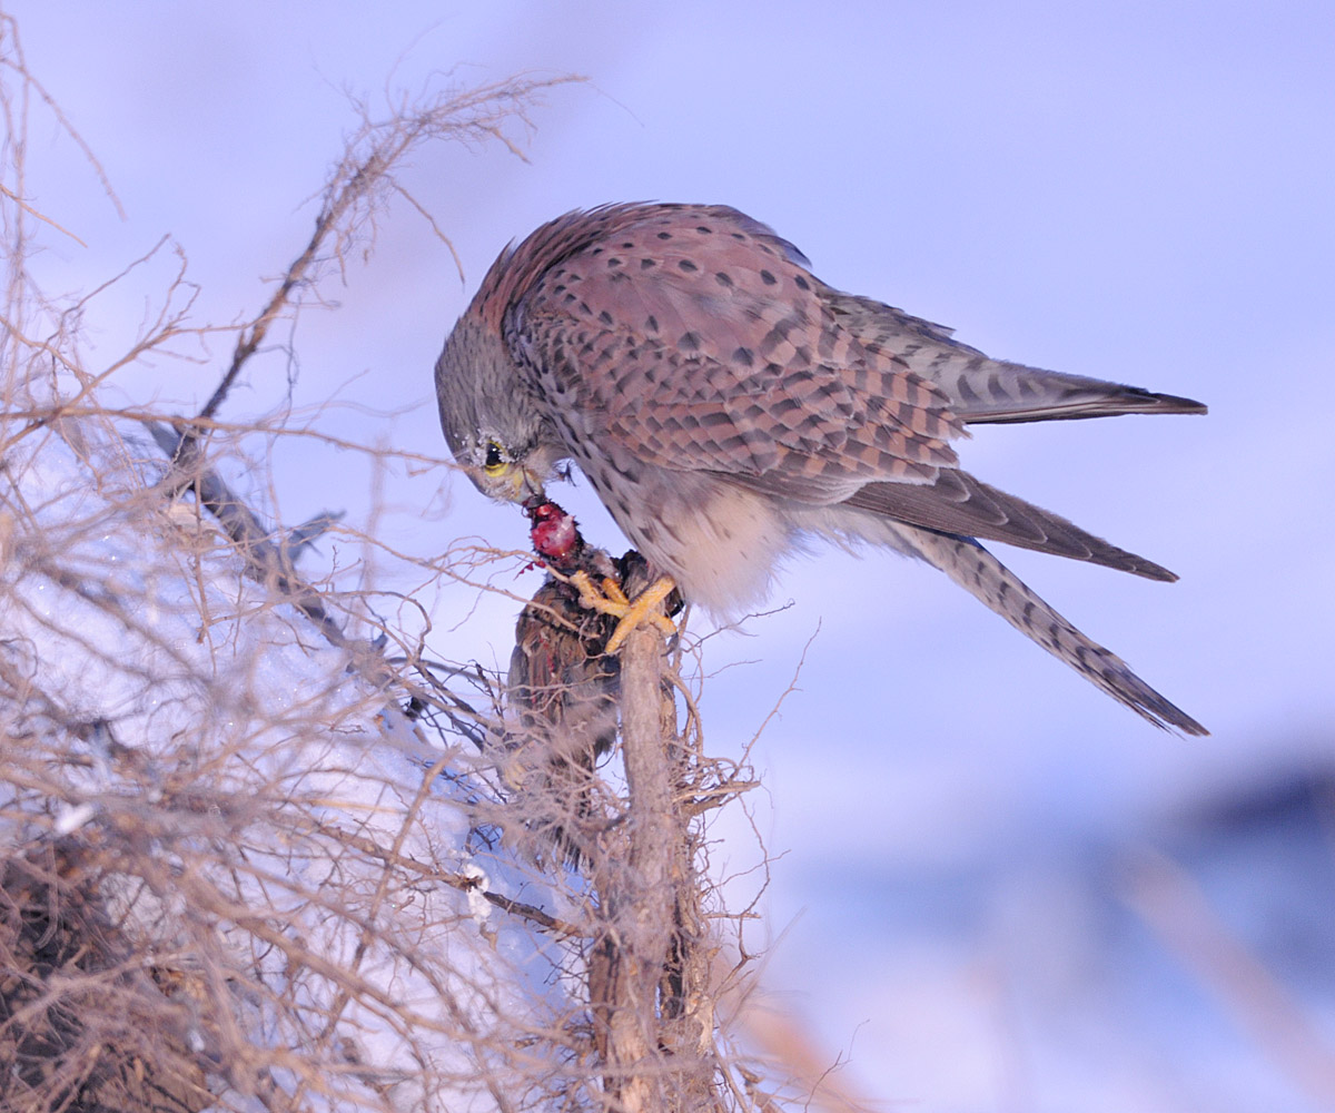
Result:
{"label": "kestrel's bent grey head with yellow-ringed eye and snow-flecked face", "polygon": [[445,342],[435,390],[445,440],[478,490],[502,502],[542,494],[565,453],[505,341],[471,310]]}

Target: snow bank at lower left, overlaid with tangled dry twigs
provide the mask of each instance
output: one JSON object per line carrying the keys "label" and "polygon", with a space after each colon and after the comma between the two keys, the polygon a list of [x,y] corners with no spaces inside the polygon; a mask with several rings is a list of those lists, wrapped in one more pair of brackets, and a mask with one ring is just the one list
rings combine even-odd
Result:
{"label": "snow bank at lower left, overlaid with tangled dry twigs", "polygon": [[406,719],[125,445],[65,422],[7,457],[9,727],[41,731],[47,763],[0,808],[5,842],[115,848],[123,933],[212,994],[186,1040],[219,1108],[264,1085],[307,1109],[494,1108],[515,1031],[571,1009],[569,955],[485,899],[543,887],[471,847],[469,744]]}

